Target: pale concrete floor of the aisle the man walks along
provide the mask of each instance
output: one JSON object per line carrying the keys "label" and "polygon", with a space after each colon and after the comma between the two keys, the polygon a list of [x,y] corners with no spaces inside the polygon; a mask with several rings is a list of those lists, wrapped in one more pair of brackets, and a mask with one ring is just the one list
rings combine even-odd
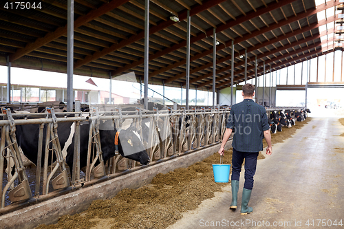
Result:
{"label": "pale concrete floor of the aisle the man walks along", "polygon": [[[186,212],[169,229],[342,228],[338,225],[344,225],[342,133],[344,126],[338,118],[312,118],[292,138],[273,144],[272,155],[258,161],[250,215],[241,216],[239,205],[235,211],[228,209],[228,184],[222,193]],[[241,171],[238,204],[243,186]],[[337,226],[333,225],[335,220]]]}

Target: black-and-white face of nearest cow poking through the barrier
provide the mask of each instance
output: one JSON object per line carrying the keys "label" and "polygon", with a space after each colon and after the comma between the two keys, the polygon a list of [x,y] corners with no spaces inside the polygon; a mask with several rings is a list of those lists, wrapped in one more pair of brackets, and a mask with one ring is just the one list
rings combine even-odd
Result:
{"label": "black-and-white face of nearest cow poking through the barrier", "polygon": [[135,160],[136,162],[140,162],[140,164],[149,164],[151,159],[149,158],[146,149],[144,149],[140,135],[138,135],[135,130],[131,128],[122,130],[120,131],[119,138],[123,149],[122,156]]}

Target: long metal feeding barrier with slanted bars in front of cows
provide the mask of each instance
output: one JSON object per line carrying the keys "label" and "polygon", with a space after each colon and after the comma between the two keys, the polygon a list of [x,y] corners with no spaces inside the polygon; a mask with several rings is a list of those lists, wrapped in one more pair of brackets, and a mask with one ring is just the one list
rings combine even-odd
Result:
{"label": "long metal feeding barrier with slanted bars in front of cows", "polygon": [[[6,182],[6,174],[3,173],[5,159],[14,160],[14,174],[11,177],[8,170],[10,178],[7,178],[5,186],[1,186],[0,213],[6,212],[9,205],[6,205],[6,198],[11,202],[11,206],[12,203],[25,205],[37,199],[48,199],[66,190],[94,184],[104,178],[109,179],[145,167],[119,154],[105,163],[100,139],[101,122],[109,120],[116,129],[136,127],[151,158],[151,165],[192,153],[222,140],[230,109],[146,111],[136,108],[133,111],[122,111],[116,108],[114,111],[98,111],[98,108],[93,108],[89,112],[55,113],[54,108],[47,107],[45,113],[11,113],[10,109],[5,108],[1,111],[1,184],[3,181]],[[59,138],[61,133],[58,133],[58,125],[63,122],[69,122],[74,130],[73,168],[69,168],[72,170],[72,177],[67,173]],[[16,138],[16,127],[29,124],[37,125],[39,129],[36,146],[38,150],[32,152],[37,155],[37,164],[36,174],[31,177],[33,182],[30,182],[34,186],[31,187],[22,161],[23,153]],[[80,168],[80,125],[89,125],[85,170]],[[34,190],[31,190],[32,188]]]}

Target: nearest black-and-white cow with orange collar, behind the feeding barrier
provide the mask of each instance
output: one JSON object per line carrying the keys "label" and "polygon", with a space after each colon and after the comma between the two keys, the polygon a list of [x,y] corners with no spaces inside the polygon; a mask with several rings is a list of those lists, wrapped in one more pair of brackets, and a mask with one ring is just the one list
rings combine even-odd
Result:
{"label": "nearest black-and-white cow with orange collar, behind the feeding barrier", "polygon": [[[58,116],[58,115],[56,115]],[[107,120],[106,122],[101,122],[100,126],[102,129],[99,130],[100,132],[100,142],[103,151],[103,160],[105,162],[112,156],[115,155],[115,146],[114,146],[114,138],[116,132],[118,130],[113,126],[109,125],[109,122],[112,123],[112,120]],[[73,122],[59,122],[58,123],[58,140],[61,145],[61,149],[64,148],[65,142],[67,142],[69,138],[69,133],[71,131],[71,125]],[[107,126],[110,126],[107,127]],[[107,128],[105,128],[107,127]],[[16,135],[17,135],[17,142],[26,157],[37,164],[37,152],[38,152],[38,142],[39,142],[39,124],[25,124],[25,125],[17,125],[16,126]],[[43,129],[43,144],[42,144],[42,161],[41,165],[43,166],[44,163],[44,152],[45,152],[45,135],[46,135],[47,124]],[[123,157],[136,160],[141,164],[149,164],[150,158],[147,155],[147,152],[144,150],[143,144],[135,133],[136,131],[131,127],[127,130],[121,130],[118,138],[118,153]],[[86,166],[86,158],[87,158],[87,147],[88,147],[88,135],[89,135],[89,124],[82,124],[80,125],[80,168]],[[130,141],[129,141],[130,139]],[[128,142],[132,142],[132,146]],[[128,146],[129,144],[129,146]],[[52,149],[52,144],[50,144],[50,149]],[[135,153],[127,152],[127,151],[135,151]],[[72,140],[72,144],[67,148],[67,156],[66,162],[69,166],[69,170],[72,172],[72,165],[73,165],[73,155],[74,155],[74,138]],[[56,160],[55,155],[51,158],[51,153],[49,155],[49,165],[52,161]],[[71,173],[72,174],[72,173]]]}

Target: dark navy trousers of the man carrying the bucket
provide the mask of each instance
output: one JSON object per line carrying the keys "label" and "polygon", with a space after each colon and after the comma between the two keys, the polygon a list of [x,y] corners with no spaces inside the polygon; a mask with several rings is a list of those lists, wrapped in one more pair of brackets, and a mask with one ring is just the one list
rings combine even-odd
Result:
{"label": "dark navy trousers of the man carrying the bucket", "polygon": [[253,176],[256,173],[258,153],[246,153],[236,151],[233,148],[232,180],[239,180],[242,162],[245,159],[245,183],[244,188],[252,190]]}

